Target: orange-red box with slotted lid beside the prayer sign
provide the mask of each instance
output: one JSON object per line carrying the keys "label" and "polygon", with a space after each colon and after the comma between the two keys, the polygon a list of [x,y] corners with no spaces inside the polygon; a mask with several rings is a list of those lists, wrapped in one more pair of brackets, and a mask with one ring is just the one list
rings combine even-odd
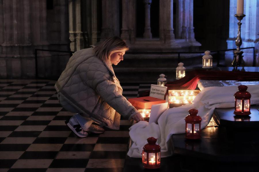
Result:
{"label": "orange-red box with slotted lid beside the prayer sign", "polygon": [[152,105],[165,103],[165,100],[158,99],[154,97],[138,97],[138,98],[132,98],[128,99],[128,101],[136,108],[136,109],[151,109]]}

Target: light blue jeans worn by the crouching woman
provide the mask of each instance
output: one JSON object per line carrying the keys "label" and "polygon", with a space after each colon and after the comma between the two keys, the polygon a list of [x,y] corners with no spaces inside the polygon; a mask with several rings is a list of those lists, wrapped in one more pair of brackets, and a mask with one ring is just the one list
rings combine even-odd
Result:
{"label": "light blue jeans worn by the crouching woman", "polygon": [[89,116],[82,116],[80,111],[73,107],[69,102],[64,99],[62,95],[58,95],[58,99],[60,104],[69,112],[77,113],[74,117],[77,119],[79,125],[82,127],[83,130],[86,130],[90,127],[90,125],[94,122]]}

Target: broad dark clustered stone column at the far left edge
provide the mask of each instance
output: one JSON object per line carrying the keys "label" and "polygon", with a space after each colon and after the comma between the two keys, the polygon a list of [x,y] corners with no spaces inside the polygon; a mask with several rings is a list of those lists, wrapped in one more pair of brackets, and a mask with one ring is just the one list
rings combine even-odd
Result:
{"label": "broad dark clustered stone column at the far left edge", "polygon": [[[34,49],[47,49],[46,3],[44,1],[4,0],[3,42],[1,42],[1,77],[35,76]],[[39,57],[49,57],[41,52]],[[42,63],[44,66],[44,60]],[[40,71],[40,69],[39,69]]]}

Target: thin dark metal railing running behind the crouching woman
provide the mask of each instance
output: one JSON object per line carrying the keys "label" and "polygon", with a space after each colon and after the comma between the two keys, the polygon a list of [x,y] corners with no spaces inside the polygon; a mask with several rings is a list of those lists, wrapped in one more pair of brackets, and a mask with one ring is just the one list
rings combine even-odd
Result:
{"label": "thin dark metal railing running behind the crouching woman", "polygon": [[[246,47],[246,48],[240,48],[240,49],[253,49],[253,67],[256,66],[256,57],[255,57],[255,47]],[[220,62],[220,52],[222,51],[231,51],[231,50],[236,50],[236,48],[234,49],[226,49],[226,50],[215,50],[215,51],[211,51],[211,53],[217,52],[217,67],[220,66],[219,62]],[[36,78],[38,77],[38,57],[37,57],[37,51],[48,51],[48,52],[65,52],[65,53],[69,53],[70,56],[72,56],[72,54],[74,53],[73,51],[60,51],[60,50],[45,50],[45,49],[35,49],[35,75]],[[204,52],[127,52],[127,54],[178,54],[178,63],[180,62],[180,54],[203,54]]]}

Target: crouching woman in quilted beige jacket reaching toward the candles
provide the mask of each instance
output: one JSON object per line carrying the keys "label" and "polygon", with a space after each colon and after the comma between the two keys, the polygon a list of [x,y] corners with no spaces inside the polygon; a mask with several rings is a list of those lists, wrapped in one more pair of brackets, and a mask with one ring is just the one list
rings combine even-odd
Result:
{"label": "crouching woman in quilted beige jacket reaching toward the candles", "polygon": [[125,41],[112,37],[99,46],[75,52],[69,59],[55,88],[60,104],[77,113],[66,122],[77,136],[103,133],[101,126],[119,130],[120,115],[137,122],[144,120],[123,97],[112,67],[123,60],[128,49]]}

